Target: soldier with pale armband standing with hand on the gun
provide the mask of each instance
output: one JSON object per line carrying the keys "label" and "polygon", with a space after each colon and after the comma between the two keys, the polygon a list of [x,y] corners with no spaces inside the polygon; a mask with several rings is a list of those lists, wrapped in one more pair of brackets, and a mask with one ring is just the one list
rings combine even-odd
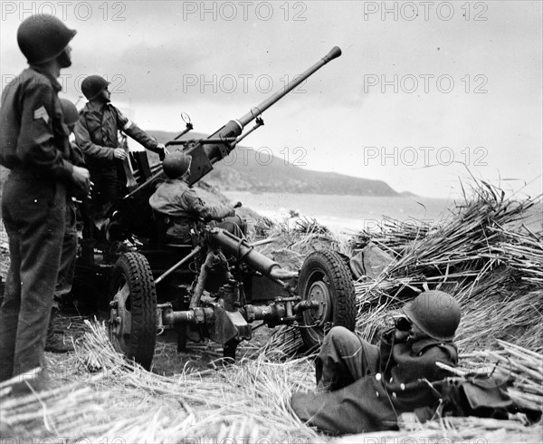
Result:
{"label": "soldier with pale armband standing with hand on the gun", "polygon": [[89,209],[94,222],[103,218],[111,204],[124,195],[127,178],[124,177],[124,170],[119,168],[119,162],[129,159],[127,152],[119,147],[119,130],[148,150],[157,152],[161,159],[166,154],[164,144],[140,130],[110,103],[109,84],[100,75],[90,75],[81,82],[81,91],[88,102],[81,110],[80,120],[73,130],[93,183]]}

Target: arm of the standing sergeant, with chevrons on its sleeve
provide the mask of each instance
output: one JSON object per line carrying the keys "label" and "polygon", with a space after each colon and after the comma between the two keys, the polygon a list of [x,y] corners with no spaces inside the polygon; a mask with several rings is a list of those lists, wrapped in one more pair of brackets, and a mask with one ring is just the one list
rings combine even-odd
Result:
{"label": "arm of the standing sergeant, with chevrons on its sleeve", "polygon": [[52,130],[54,94],[52,86],[45,82],[33,82],[32,88],[24,93],[17,156],[46,176],[70,181],[73,167],[62,158]]}

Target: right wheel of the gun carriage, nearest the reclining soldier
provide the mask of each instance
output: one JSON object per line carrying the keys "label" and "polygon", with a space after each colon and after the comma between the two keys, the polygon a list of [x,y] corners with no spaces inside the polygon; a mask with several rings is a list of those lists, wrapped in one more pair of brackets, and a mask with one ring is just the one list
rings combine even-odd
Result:
{"label": "right wheel of the gun carriage, nearest the reclining soldier", "polygon": [[313,348],[324,339],[334,325],[353,331],[357,320],[355,285],[345,260],[335,251],[311,253],[301,266],[298,281],[303,300],[318,302],[319,306],[302,312],[300,328],[303,342]]}

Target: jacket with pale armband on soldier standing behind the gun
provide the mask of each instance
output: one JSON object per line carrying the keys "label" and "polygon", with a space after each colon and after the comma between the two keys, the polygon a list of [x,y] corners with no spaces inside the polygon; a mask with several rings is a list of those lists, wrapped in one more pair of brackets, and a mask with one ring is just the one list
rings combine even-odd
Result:
{"label": "jacket with pale armband on soldier standing behind the gun", "polygon": [[129,121],[111,103],[106,103],[100,110],[95,110],[87,103],[80,111],[80,119],[73,134],[90,169],[115,165],[113,149],[119,148],[119,130],[126,132],[148,150],[157,151],[157,140]]}

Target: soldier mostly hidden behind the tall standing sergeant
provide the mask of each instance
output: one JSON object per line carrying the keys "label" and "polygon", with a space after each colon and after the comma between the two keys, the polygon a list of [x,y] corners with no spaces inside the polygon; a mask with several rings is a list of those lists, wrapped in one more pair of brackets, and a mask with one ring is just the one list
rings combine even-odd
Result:
{"label": "soldier mostly hidden behind the tall standing sergeant", "polygon": [[[79,120],[79,112],[75,105],[68,99],[61,98],[63,121],[68,128],[69,134],[72,133],[73,127]],[[75,143],[70,144],[70,160],[73,165],[82,167],[84,165],[83,153]],[[76,227],[76,206],[75,198],[86,198],[86,196],[77,196],[73,193],[66,195],[66,219],[64,227],[64,239],[62,241],[61,265],[59,267],[59,275],[54,290],[52,301],[51,319],[47,328],[47,338],[45,341],[45,352],[65,353],[72,352],[73,346],[71,343],[64,343],[61,338],[56,336],[54,330],[54,319],[59,313],[59,304],[62,301],[62,296],[71,291],[73,283],[73,273],[75,271],[75,256],[77,254],[77,227]]]}

